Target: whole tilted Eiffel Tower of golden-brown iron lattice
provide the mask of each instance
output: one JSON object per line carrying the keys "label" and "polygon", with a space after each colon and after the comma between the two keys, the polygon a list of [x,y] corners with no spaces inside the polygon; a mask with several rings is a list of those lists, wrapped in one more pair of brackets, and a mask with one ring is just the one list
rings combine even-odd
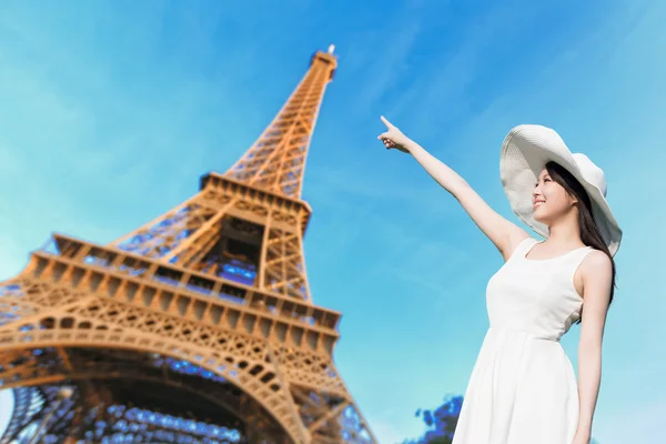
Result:
{"label": "whole tilted Eiffel Tower of golden-brown iron lattice", "polygon": [[0,283],[0,443],[374,443],[312,302],[301,199],[333,47],[224,174],[132,233],[63,234]]}

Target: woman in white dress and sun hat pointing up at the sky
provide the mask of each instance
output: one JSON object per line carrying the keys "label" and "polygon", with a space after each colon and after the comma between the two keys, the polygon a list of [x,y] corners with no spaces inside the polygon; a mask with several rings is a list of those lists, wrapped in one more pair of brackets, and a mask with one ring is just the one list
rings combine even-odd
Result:
{"label": "woman in white dress and sun hat pointing up at the sky", "polygon": [[[604,173],[539,125],[516,127],[501,152],[513,211],[491,209],[452,169],[382,117],[386,149],[410,153],[461,203],[504,258],[486,289],[490,329],[470,379],[454,444],[586,444],[602,373],[619,230]],[[583,310],[584,307],[584,310]],[[578,382],[559,339],[579,322]]]}

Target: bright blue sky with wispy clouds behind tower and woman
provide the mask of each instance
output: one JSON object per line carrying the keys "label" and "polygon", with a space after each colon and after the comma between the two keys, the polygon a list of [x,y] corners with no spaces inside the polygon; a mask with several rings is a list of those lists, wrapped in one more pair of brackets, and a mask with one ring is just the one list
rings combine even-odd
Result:
{"label": "bright blue sky with wispy clouds behind tower and woman", "polygon": [[[178,3],[0,6],[0,278],[52,231],[107,243],[195,193],[333,42],[305,254],[314,301],[344,313],[336,362],[382,443],[421,434],[418,407],[464,393],[502,260],[411,158],[376,141],[380,114],[512,220],[498,178],[512,127],[555,128],[604,169],[625,238],[594,433],[660,436],[666,3]],[[574,365],[577,339],[563,341]]]}

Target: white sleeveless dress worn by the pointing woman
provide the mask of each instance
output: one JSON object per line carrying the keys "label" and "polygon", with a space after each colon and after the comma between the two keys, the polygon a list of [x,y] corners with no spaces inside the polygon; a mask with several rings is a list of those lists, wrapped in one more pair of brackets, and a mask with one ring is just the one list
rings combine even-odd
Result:
{"label": "white sleeveless dress worn by the pointing woman", "polygon": [[574,274],[585,246],[546,260],[521,242],[486,290],[490,329],[453,444],[569,444],[578,426],[574,369],[559,339],[581,315]]}

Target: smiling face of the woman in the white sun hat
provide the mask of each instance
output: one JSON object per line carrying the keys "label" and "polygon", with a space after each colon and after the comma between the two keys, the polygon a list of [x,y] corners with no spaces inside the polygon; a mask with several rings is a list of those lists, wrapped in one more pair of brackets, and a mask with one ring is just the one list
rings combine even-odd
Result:
{"label": "smiling face of the woman in the white sun hat", "polygon": [[575,203],[576,200],[566,192],[564,186],[551,178],[548,170],[542,170],[532,192],[534,219],[545,225],[551,225],[572,211]]}

